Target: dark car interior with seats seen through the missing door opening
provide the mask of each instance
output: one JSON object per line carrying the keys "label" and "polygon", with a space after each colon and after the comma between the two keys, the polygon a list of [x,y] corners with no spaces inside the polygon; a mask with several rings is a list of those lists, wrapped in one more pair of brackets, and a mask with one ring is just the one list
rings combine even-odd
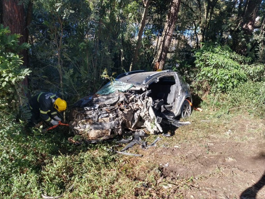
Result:
{"label": "dark car interior with seats seen through the missing door opening", "polygon": [[154,112],[170,113],[177,96],[177,85],[174,76],[161,77],[158,82],[151,83],[147,90],[151,90]]}

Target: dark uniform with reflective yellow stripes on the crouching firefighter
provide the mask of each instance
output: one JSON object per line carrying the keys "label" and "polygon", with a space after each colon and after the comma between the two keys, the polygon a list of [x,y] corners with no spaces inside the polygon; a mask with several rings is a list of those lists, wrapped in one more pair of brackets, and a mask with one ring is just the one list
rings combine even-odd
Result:
{"label": "dark uniform with reflective yellow stripes on the crouching firefighter", "polygon": [[57,98],[56,94],[50,92],[43,92],[31,98],[29,100],[31,122],[37,124],[39,119],[50,122],[57,115],[57,110],[53,107]]}

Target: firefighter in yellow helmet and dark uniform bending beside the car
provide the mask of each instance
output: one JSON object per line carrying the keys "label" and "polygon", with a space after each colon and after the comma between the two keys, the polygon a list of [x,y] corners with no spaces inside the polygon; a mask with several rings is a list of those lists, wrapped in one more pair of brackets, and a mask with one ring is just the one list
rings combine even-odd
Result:
{"label": "firefighter in yellow helmet and dark uniform bending beside the car", "polygon": [[61,121],[58,117],[57,111],[61,112],[66,109],[66,102],[59,98],[56,94],[50,92],[42,92],[29,100],[29,108],[32,114],[29,125],[39,127],[43,120],[50,122],[53,126]]}

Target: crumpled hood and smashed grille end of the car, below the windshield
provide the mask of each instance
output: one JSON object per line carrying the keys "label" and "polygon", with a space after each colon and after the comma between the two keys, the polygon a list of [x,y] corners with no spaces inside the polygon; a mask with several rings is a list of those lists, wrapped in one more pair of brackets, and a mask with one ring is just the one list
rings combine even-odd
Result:
{"label": "crumpled hood and smashed grille end of the car, below the windshield", "polygon": [[152,109],[152,98],[142,95],[114,93],[82,98],[72,108],[70,123],[76,134],[86,139],[121,134],[123,129],[147,127],[151,133],[161,131]]}

